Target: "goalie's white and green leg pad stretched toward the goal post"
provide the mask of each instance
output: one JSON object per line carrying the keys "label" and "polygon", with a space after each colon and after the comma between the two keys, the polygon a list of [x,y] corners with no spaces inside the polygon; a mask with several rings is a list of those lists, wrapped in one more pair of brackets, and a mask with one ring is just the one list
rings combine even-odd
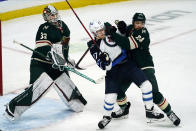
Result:
{"label": "goalie's white and green leg pad stretched toward the goal post", "polygon": [[52,84],[53,80],[46,73],[42,73],[29,88],[6,104],[6,113],[11,114],[13,119],[20,117],[22,113],[46,94]]}

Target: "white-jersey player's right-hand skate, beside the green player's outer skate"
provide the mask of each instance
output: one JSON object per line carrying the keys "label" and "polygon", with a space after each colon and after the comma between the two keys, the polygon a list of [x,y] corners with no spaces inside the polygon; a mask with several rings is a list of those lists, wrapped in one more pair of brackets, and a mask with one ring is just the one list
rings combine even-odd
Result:
{"label": "white-jersey player's right-hand skate, beside the green player's outer skate", "polygon": [[151,109],[146,109],[147,123],[164,121],[164,114],[157,112],[154,106]]}

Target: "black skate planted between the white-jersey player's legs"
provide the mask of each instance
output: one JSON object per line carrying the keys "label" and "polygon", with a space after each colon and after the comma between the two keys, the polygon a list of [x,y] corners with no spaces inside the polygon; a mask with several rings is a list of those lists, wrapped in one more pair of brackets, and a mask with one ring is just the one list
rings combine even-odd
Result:
{"label": "black skate planted between the white-jersey player's legs", "polygon": [[115,118],[115,119],[126,119],[126,118],[128,118],[130,106],[131,106],[131,103],[127,102],[127,105],[126,105],[124,110],[120,108],[118,111],[112,112],[112,115],[111,115],[112,118]]}

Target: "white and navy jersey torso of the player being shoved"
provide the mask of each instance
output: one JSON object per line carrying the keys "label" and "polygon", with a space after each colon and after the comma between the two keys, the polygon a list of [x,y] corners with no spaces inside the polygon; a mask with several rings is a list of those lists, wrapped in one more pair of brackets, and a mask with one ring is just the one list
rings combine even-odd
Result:
{"label": "white and navy jersey torso of the player being shoved", "polygon": [[[90,53],[95,59],[97,65],[103,70],[106,70],[107,65],[104,65],[104,62],[100,59],[100,54],[102,52],[109,54],[112,68],[127,58],[126,50],[130,49],[128,38],[120,36],[117,33],[114,33],[112,38],[106,36],[104,39],[96,40],[96,45],[92,40],[89,41],[87,45],[90,48]],[[109,69],[107,68],[107,70]]]}

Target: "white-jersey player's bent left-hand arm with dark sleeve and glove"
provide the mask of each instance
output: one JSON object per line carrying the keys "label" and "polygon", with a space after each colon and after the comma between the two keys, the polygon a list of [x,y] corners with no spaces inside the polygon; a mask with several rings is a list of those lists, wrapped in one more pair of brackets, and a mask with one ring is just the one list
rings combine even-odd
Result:
{"label": "white-jersey player's bent left-hand arm with dark sleeve and glove", "polygon": [[[96,41],[100,42],[100,40]],[[100,49],[93,43],[93,41],[89,41],[87,43],[88,47],[90,48],[90,53],[94,60],[96,61],[97,65],[103,69],[107,70],[111,68],[111,59],[109,58],[109,55],[106,52],[101,52]]]}

